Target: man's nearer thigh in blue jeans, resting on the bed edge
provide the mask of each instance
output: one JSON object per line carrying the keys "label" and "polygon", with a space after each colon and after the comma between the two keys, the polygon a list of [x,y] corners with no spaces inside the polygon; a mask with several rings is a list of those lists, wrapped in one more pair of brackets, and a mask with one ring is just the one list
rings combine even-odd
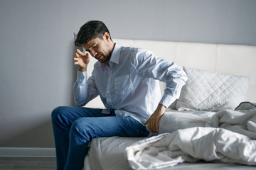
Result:
{"label": "man's nearer thigh in blue jeans, resting on the bed edge", "polygon": [[87,136],[90,139],[95,137],[144,137],[149,135],[149,131],[145,126],[139,123],[134,118],[127,117],[91,117],[79,118],[75,120],[71,131],[82,136]]}

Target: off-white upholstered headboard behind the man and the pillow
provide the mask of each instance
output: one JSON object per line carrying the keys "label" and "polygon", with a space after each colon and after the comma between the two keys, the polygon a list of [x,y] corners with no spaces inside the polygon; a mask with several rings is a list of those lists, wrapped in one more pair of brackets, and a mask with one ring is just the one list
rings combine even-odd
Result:
{"label": "off-white upholstered headboard behind the man and the pillow", "polygon": [[[231,74],[250,77],[250,86],[246,101],[256,102],[256,46],[222,45],[195,42],[166,42],[153,40],[114,39],[122,46],[142,47],[151,50],[165,60],[176,62],[181,67],[203,69],[221,74]],[[88,75],[96,60],[90,60]],[[164,89],[163,84],[161,88]],[[100,98],[87,103],[87,107],[99,106]]]}

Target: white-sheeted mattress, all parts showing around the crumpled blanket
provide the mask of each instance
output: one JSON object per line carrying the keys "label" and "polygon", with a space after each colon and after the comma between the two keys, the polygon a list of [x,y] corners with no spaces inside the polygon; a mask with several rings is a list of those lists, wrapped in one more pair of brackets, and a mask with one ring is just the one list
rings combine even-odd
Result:
{"label": "white-sheeted mattress, all parts showing around the crumpled blanket", "polygon": [[[214,112],[204,111],[171,111],[165,113],[165,118],[161,118],[159,131],[176,131],[178,129],[191,128],[195,126],[203,127]],[[146,137],[100,137],[93,139],[90,150],[85,157],[84,170],[126,170],[132,169],[129,166],[126,156],[126,148],[135,142],[143,141]],[[255,169],[255,166],[228,163],[194,162],[182,163],[163,169]]]}

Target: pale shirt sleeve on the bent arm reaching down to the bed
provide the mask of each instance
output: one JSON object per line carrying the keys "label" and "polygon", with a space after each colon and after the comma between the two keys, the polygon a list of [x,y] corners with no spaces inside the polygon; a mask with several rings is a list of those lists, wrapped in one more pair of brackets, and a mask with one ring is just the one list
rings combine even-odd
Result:
{"label": "pale shirt sleeve on the bent arm reaching down to the bed", "polygon": [[137,69],[139,76],[158,79],[166,83],[164,95],[159,103],[169,107],[171,103],[179,98],[181,88],[186,84],[186,73],[174,62],[156,57],[150,51],[139,51],[135,58],[134,67]]}

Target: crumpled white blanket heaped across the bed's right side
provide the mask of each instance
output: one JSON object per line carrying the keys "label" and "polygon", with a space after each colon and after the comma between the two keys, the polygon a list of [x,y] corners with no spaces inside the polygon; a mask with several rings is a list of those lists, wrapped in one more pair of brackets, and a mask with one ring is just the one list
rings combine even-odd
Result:
{"label": "crumpled white blanket heaped across the bed's right side", "polygon": [[219,111],[206,126],[136,142],[127,147],[127,160],[132,169],[162,169],[200,159],[256,165],[256,108]]}

